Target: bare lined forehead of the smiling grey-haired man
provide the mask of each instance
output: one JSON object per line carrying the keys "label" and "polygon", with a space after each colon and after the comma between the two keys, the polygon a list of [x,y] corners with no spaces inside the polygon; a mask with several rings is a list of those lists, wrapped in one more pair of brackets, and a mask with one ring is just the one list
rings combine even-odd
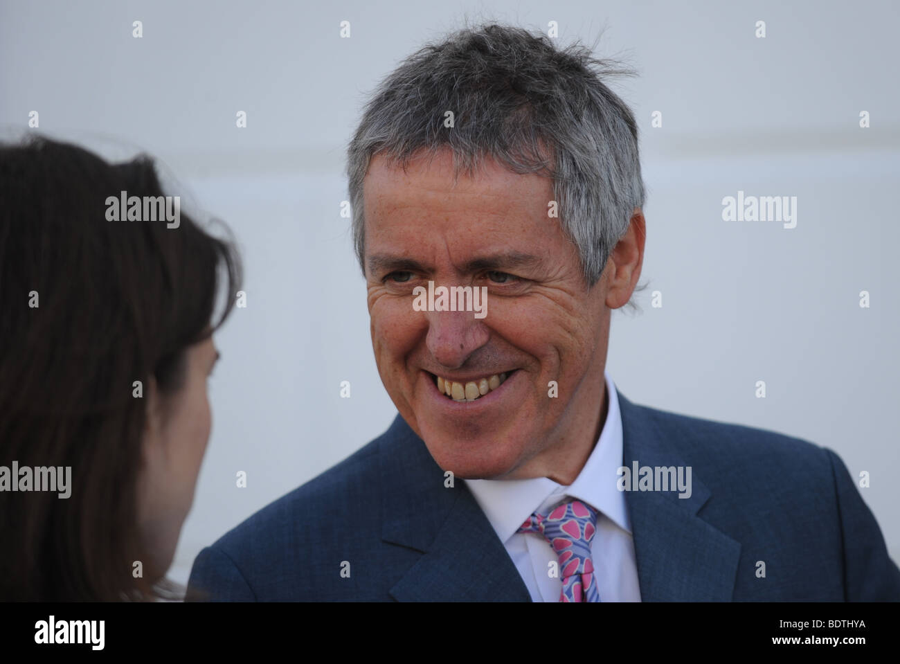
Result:
{"label": "bare lined forehead of the smiling grey-haired man", "polygon": [[539,240],[559,229],[548,218],[553,184],[513,173],[485,157],[472,175],[454,176],[453,154],[420,154],[405,171],[376,155],[364,183],[365,249],[423,248],[428,240],[467,251]]}

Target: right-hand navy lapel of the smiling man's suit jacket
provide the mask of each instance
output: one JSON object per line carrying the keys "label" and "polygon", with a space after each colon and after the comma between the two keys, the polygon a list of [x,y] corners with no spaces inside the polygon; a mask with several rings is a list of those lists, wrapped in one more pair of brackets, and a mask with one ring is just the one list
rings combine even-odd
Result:
{"label": "right-hand navy lapel of the smiling man's suit jacket", "polygon": [[[655,411],[635,406],[621,392],[618,399],[623,466],[690,465],[678,453],[677,432],[663,431]],[[678,491],[626,492],[643,601],[732,598],[741,544],[698,516],[711,493],[693,467],[691,485],[690,498],[679,498]]]}

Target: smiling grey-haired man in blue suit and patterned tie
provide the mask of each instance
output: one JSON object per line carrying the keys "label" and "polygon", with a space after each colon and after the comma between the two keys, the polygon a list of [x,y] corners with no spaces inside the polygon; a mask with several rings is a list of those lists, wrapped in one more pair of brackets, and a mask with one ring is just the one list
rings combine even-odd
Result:
{"label": "smiling grey-haired man in blue suit and patterned tie", "polygon": [[189,598],[900,598],[837,455],[635,405],[608,376],[645,236],[608,73],[491,25],[374,94],[348,175],[400,416],[204,549]]}

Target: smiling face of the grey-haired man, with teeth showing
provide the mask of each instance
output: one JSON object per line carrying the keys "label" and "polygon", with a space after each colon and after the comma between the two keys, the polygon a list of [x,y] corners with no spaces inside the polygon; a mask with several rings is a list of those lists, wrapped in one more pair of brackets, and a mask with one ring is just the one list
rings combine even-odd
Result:
{"label": "smiling face of the grey-haired man, with teeth showing", "polygon": [[[553,476],[573,454],[583,463],[604,403],[608,271],[584,283],[576,247],[548,217],[550,180],[485,161],[454,185],[446,151],[406,173],[376,156],[364,191],[375,361],[437,464],[461,478],[511,479]],[[429,280],[486,286],[486,317],[414,310],[413,289]],[[504,373],[482,395],[482,380]],[[455,400],[438,376],[482,390]]]}

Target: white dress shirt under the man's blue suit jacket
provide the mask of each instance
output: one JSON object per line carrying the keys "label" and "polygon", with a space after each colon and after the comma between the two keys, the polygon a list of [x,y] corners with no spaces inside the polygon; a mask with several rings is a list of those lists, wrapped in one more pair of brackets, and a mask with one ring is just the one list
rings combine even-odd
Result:
{"label": "white dress shirt under the man's blue suit jacket", "polygon": [[635,543],[625,492],[616,487],[622,466],[622,415],[616,385],[604,373],[609,408],[588,461],[565,487],[546,477],[528,480],[465,480],[504,544],[535,602],[558,602],[563,580],[551,577],[556,553],[540,533],[517,533],[534,512],[547,514],[563,500],[579,499],[598,510],[597,534],[590,543],[600,600],[640,602]]}

